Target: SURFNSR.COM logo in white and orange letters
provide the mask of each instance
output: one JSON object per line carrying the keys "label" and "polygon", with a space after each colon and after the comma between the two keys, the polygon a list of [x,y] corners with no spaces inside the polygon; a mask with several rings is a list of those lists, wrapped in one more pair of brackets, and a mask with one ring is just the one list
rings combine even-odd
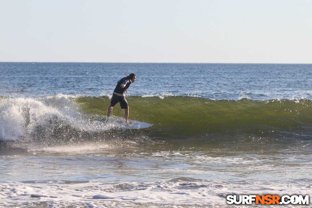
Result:
{"label": "SURFNSR.COM logo in white and orange letters", "polygon": [[228,195],[228,204],[309,204],[309,195]]}

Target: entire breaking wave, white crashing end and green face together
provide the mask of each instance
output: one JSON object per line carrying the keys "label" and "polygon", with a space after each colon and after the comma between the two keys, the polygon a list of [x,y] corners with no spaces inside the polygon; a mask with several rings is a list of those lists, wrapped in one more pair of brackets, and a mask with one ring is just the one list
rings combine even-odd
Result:
{"label": "entire breaking wave, white crashing end and green face together", "polygon": [[[127,100],[130,119],[154,124],[143,132],[152,137],[264,136],[289,132],[311,138],[312,101],[309,99],[210,100],[196,96],[154,95],[127,96]],[[53,142],[113,138],[119,134],[114,134],[118,132],[117,126],[92,120],[96,115],[106,115],[109,105],[110,97],[106,95],[59,94],[38,99],[1,97],[0,140],[49,138]],[[124,116],[119,105],[115,106],[112,116]]]}

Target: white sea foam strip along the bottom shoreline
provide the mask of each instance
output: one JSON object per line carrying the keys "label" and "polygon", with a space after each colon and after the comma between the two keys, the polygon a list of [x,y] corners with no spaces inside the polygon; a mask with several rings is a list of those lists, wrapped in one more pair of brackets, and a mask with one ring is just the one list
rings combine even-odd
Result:
{"label": "white sea foam strip along the bottom shoreline", "polygon": [[[278,190],[276,187],[279,187]],[[264,184],[257,181],[230,183],[221,181],[154,181],[105,184],[32,184],[7,182],[0,185],[2,205],[27,206],[90,206],[91,207],[228,207],[228,194],[308,195],[310,189],[283,183]],[[311,198],[310,198],[311,200]],[[237,205],[235,207],[249,207]],[[270,207],[280,207],[271,205]]]}

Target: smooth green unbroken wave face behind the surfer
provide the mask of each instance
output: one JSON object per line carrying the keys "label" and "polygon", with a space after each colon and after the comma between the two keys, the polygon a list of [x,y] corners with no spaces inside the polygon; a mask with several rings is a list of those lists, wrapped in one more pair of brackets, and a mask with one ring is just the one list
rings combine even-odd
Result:
{"label": "smooth green unbroken wave face behind the surfer", "polygon": [[[183,137],[208,133],[294,131],[311,133],[310,100],[209,100],[200,97],[126,97],[129,119],[154,124],[156,134]],[[75,102],[88,115],[106,115],[108,97],[79,97]],[[117,104],[114,116],[122,117]]]}

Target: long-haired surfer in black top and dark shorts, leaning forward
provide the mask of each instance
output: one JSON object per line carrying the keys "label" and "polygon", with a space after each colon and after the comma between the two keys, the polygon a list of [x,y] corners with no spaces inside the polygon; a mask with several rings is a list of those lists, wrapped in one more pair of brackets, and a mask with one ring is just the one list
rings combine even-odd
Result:
{"label": "long-haired surfer in black top and dark shorts, leaning forward", "polygon": [[129,106],[126,98],[124,97],[124,93],[127,92],[127,89],[130,86],[130,84],[132,82],[135,82],[135,79],[136,75],[134,73],[131,73],[127,77],[121,78],[117,82],[117,85],[113,92],[112,99],[110,100],[110,107],[108,108],[107,116],[110,116],[113,107],[119,102],[121,109],[124,109],[124,118],[126,119],[126,122],[131,123],[131,121],[128,121]]}

